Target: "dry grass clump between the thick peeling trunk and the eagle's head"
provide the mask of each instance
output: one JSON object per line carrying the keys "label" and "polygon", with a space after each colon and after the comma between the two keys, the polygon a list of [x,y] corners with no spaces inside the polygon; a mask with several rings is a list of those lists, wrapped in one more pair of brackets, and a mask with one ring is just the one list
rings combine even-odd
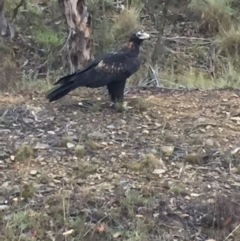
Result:
{"label": "dry grass clump between the thick peeling trunk and the eagle's head", "polygon": [[[96,0],[89,1],[90,11],[93,11],[95,16],[101,16],[94,19],[93,35],[94,39],[97,39],[94,48],[97,55],[112,51],[115,46],[119,47],[120,42],[125,42],[130,33],[142,27],[140,21],[142,1],[132,0],[125,3],[123,3],[125,9],[118,11],[114,7],[115,3],[104,0],[102,1],[104,6],[99,10],[99,3]],[[117,5],[120,6],[119,3]]]}

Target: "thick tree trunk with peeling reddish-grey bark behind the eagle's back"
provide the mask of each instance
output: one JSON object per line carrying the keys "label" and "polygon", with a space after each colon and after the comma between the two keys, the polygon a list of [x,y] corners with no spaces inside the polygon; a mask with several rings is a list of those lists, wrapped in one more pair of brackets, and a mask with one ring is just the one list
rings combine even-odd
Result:
{"label": "thick tree trunk with peeling reddish-grey bark behind the eagle's back", "polygon": [[[1,1],[1,0],[0,0]],[[70,72],[81,69],[92,57],[91,16],[85,0],[59,0],[69,27],[67,51]]]}

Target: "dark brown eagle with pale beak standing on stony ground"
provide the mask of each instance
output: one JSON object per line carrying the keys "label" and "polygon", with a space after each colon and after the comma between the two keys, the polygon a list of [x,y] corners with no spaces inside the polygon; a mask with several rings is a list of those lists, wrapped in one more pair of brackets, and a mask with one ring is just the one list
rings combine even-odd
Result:
{"label": "dark brown eagle with pale beak standing on stony ground", "polygon": [[96,58],[82,70],[59,79],[50,89],[46,98],[52,102],[81,87],[98,88],[107,86],[113,102],[123,101],[127,78],[140,67],[139,47],[149,34],[139,31],[133,34],[128,44],[117,52],[108,53]]}

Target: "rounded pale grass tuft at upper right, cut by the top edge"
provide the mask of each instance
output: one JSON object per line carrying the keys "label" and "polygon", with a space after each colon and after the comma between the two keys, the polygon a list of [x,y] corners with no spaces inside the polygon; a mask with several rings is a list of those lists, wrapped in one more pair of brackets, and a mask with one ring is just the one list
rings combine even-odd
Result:
{"label": "rounded pale grass tuft at upper right, cut by the top edge", "polygon": [[198,17],[201,29],[218,32],[232,22],[235,11],[231,5],[232,0],[192,0],[188,8]]}

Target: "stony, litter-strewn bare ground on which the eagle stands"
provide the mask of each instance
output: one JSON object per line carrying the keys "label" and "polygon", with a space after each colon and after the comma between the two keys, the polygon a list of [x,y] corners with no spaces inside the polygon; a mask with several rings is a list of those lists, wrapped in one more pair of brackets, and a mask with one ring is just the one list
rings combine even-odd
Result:
{"label": "stony, litter-strewn bare ground on which the eagle stands", "polygon": [[130,91],[122,113],[5,99],[3,240],[223,240],[240,219],[239,96]]}

